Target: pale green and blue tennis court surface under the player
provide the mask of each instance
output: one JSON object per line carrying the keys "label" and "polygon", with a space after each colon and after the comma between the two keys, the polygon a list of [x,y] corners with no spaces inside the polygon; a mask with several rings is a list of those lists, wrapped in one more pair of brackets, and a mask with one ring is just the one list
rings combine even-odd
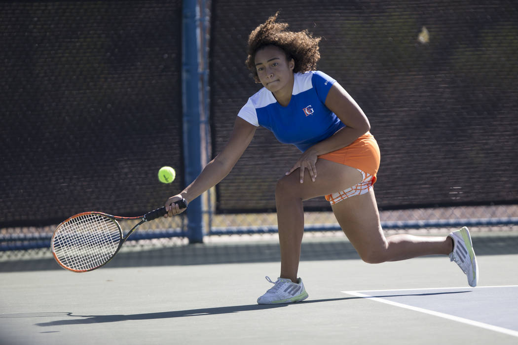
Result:
{"label": "pale green and blue tennis court surface under the player", "polygon": [[0,262],[2,344],[516,344],[518,236],[473,238],[471,288],[447,257],[370,265],[344,237],[305,238],[309,298],[257,305],[279,270],[275,241],[121,252],[65,271],[52,258]]}

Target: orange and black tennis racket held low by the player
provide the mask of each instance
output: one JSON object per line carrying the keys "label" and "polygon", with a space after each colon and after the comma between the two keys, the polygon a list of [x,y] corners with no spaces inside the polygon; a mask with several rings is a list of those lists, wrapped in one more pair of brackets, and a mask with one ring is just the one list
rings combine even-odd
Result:
{"label": "orange and black tennis racket held low by the player", "polygon": [[[175,201],[186,208],[185,199]],[[57,263],[69,271],[89,272],[108,263],[142,223],[162,217],[165,207],[140,217],[119,217],[101,212],[84,212],[72,216],[57,226],[51,248]],[[140,220],[124,237],[117,220]]]}

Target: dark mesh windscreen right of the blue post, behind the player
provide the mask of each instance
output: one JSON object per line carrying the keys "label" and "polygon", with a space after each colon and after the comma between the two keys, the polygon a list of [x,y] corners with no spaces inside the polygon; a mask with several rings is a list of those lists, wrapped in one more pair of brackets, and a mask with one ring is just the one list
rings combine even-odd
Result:
{"label": "dark mesh windscreen right of the blue post, behind the player", "polygon": [[[279,21],[291,29],[307,28],[322,37],[317,68],[335,78],[369,118],[381,151],[380,208],[516,203],[518,17],[513,2],[215,2],[215,153],[226,143],[239,109],[261,87],[242,67],[248,34],[279,9]],[[299,155],[258,129],[217,187],[217,212],[275,209],[277,180]],[[305,206],[329,209],[323,198]]]}

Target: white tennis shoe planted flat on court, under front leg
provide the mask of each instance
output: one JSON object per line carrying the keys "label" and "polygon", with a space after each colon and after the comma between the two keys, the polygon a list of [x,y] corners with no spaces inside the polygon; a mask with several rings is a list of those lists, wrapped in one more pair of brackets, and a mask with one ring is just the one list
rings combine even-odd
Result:
{"label": "white tennis shoe planted flat on court, under front leg", "polygon": [[270,277],[266,277],[266,280],[274,286],[257,298],[257,304],[293,303],[308,298],[308,293],[300,278],[297,279],[296,283],[286,278],[277,278],[277,281],[274,282],[271,281]]}

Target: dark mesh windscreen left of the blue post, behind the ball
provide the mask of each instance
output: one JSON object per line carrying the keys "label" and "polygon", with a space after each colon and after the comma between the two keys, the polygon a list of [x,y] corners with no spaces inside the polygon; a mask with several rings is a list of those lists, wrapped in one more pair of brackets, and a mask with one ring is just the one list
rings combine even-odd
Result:
{"label": "dark mesh windscreen left of the blue post, behind the ball", "polygon": [[163,204],[158,169],[183,170],[180,24],[180,1],[0,4],[0,224]]}

